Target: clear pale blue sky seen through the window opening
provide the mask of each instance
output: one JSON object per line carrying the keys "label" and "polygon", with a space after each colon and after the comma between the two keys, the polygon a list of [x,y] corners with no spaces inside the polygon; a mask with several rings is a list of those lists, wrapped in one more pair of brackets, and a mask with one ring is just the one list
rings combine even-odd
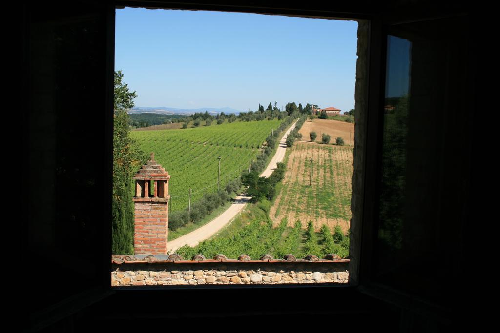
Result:
{"label": "clear pale blue sky seen through the window opening", "polygon": [[357,22],[116,9],[115,69],[135,106],[354,108]]}

